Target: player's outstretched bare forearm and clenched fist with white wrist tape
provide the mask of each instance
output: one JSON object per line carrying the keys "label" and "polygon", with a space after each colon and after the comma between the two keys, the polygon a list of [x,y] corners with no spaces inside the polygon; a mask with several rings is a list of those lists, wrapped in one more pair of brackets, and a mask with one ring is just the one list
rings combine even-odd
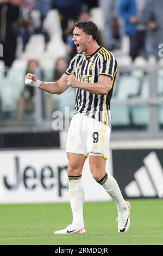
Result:
{"label": "player's outstretched bare forearm and clenched fist with white wrist tape", "polygon": [[68,75],[63,74],[56,82],[42,82],[37,80],[36,75],[28,73],[25,78],[25,83],[27,86],[33,86],[51,94],[61,94],[69,87],[67,77]]}

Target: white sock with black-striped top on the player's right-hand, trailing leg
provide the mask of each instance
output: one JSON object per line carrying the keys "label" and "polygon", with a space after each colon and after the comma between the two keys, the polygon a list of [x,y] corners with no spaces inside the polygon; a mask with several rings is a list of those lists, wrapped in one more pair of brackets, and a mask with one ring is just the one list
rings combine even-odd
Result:
{"label": "white sock with black-striped top on the player's right-hand, trailing leg", "polygon": [[127,205],[122,197],[121,190],[113,176],[106,173],[103,179],[100,180],[98,183],[104,187],[104,190],[114,200],[117,205],[118,211],[124,211],[127,209]]}

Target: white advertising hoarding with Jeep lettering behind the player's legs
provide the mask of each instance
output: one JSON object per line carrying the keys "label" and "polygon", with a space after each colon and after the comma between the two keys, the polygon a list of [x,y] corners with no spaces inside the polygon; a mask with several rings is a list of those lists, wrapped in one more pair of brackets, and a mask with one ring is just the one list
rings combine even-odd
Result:
{"label": "white advertising hoarding with Jeep lettering behind the player's legs", "polygon": [[[65,150],[0,151],[0,203],[68,202],[67,156]],[[112,174],[112,157],[106,161]],[[89,161],[83,169],[86,201],[110,200],[93,180]]]}

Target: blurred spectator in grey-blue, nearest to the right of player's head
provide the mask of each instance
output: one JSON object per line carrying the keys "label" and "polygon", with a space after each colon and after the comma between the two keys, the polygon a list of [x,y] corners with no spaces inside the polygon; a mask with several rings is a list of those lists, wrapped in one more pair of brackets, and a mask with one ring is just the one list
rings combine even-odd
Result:
{"label": "blurred spectator in grey-blue, nearest to the right of player's head", "polygon": [[109,50],[120,47],[121,26],[118,22],[120,0],[99,0],[104,17],[104,45]]}

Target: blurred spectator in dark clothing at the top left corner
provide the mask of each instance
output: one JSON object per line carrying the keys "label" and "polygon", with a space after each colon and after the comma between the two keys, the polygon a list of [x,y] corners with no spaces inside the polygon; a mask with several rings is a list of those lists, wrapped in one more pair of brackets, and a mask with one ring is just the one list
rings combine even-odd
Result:
{"label": "blurred spectator in dark clothing at the top left corner", "polygon": [[15,59],[18,19],[20,9],[15,0],[0,0],[0,44],[3,45],[5,66],[10,67]]}

